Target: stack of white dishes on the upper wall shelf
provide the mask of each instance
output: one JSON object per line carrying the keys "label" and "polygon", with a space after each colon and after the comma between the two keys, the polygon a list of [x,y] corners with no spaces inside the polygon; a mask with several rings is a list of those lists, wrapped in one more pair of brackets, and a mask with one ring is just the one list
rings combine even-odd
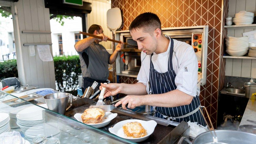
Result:
{"label": "stack of white dishes on the upper wall shelf", "polygon": [[235,17],[233,18],[233,22],[236,25],[252,24],[253,19],[254,19],[254,13],[246,12],[246,11],[240,11],[239,13],[235,14]]}

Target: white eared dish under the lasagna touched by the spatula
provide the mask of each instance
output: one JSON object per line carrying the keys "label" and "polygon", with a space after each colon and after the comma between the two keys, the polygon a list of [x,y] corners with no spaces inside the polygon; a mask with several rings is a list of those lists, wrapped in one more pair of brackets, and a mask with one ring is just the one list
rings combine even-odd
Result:
{"label": "white eared dish under the lasagna touched by the spatula", "polygon": [[[77,113],[77,114],[74,115],[74,117],[78,121],[83,122],[81,116],[82,116],[82,114],[80,114],[80,113]],[[98,123],[98,124],[87,124],[87,125],[93,126],[95,128],[100,128],[100,127],[108,125],[111,122],[111,120],[113,120],[116,116],[117,116],[117,113],[113,114],[111,112],[105,112],[105,116],[102,118],[102,122],[101,123]]]}

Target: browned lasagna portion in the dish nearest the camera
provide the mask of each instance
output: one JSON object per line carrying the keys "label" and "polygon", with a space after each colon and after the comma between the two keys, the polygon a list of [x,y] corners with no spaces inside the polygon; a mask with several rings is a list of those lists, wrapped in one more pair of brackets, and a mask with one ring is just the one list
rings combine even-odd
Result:
{"label": "browned lasagna portion in the dish nearest the camera", "polygon": [[147,135],[146,130],[140,122],[128,122],[123,125],[124,133],[127,137],[138,138]]}

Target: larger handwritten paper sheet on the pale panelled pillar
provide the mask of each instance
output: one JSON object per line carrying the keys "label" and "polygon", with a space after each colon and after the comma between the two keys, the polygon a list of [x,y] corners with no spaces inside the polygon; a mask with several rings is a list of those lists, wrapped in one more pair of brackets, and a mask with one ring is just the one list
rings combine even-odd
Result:
{"label": "larger handwritten paper sheet on the pale panelled pillar", "polygon": [[52,61],[50,45],[37,45],[38,55],[42,61]]}

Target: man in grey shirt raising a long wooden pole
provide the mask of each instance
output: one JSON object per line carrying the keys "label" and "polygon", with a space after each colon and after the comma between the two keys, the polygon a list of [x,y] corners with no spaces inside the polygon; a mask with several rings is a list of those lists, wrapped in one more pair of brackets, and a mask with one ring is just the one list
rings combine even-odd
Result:
{"label": "man in grey shirt raising a long wooden pole", "polygon": [[[93,82],[106,82],[109,76],[108,64],[114,63],[118,52],[123,49],[123,43],[116,46],[115,51],[110,55],[105,47],[99,42],[106,41],[108,37],[103,34],[103,29],[100,25],[93,24],[88,29],[88,33],[102,36],[103,39],[97,39],[89,36],[75,44],[75,49],[79,54],[81,70],[83,76],[82,91],[87,87],[91,87]],[[95,91],[98,89],[95,88]]]}

